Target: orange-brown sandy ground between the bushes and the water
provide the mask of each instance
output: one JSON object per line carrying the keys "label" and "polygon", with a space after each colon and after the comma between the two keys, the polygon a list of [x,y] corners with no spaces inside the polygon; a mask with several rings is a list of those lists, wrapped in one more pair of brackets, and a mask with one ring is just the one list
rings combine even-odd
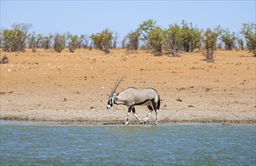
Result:
{"label": "orange-brown sandy ground between the bushes and the water", "polygon": [[[181,57],[83,49],[3,54],[9,63],[0,66],[1,119],[123,123],[126,106],[106,105],[115,79],[126,74],[117,91],[130,86],[158,91],[159,123],[256,124],[255,57],[247,51],[216,51],[215,63],[206,63],[201,52]],[[145,106],[136,111],[142,119],[148,114]],[[154,113],[149,120],[155,120]]]}

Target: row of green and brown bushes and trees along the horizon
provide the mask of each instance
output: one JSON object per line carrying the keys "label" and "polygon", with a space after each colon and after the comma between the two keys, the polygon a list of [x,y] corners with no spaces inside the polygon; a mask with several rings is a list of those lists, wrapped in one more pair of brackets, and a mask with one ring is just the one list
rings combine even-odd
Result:
{"label": "row of green and brown bushes and trees along the horizon", "polygon": [[158,26],[155,20],[145,20],[123,38],[111,29],[103,29],[92,35],[73,35],[70,32],[43,35],[30,32],[31,26],[30,23],[14,23],[11,29],[1,29],[2,51],[25,51],[26,48],[31,48],[36,52],[36,48],[52,48],[61,52],[64,48],[69,48],[70,52],[74,52],[77,48],[95,48],[109,54],[111,48],[123,48],[128,51],[147,50],[155,56],[177,57],[183,51],[199,50],[211,63],[214,62],[214,51],[217,49],[247,49],[256,57],[255,23],[242,23],[239,32],[230,32],[228,28],[221,26],[200,29],[185,20],[180,24],[170,24],[167,28]]}

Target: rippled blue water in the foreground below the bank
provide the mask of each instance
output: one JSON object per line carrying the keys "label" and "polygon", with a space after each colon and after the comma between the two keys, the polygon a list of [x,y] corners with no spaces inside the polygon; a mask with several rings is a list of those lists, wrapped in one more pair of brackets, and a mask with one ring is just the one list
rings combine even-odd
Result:
{"label": "rippled blue water in the foreground below the bank", "polygon": [[2,124],[1,165],[255,165],[255,126]]}

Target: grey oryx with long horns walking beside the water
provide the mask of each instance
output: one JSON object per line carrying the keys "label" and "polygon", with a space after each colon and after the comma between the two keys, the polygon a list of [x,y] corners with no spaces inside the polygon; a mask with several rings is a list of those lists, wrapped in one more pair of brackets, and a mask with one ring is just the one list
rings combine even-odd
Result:
{"label": "grey oryx with long horns walking beside the water", "polygon": [[145,118],[145,122],[148,121],[148,118],[154,109],[156,115],[155,124],[158,124],[158,109],[160,108],[160,97],[158,92],[153,88],[136,89],[130,87],[120,92],[120,94],[117,94],[115,91],[117,90],[117,87],[120,84],[120,81],[122,81],[123,77],[120,78],[119,81],[118,79],[119,78],[117,78],[117,81],[111,90],[111,94],[109,95],[107,109],[110,109],[111,106],[114,106],[114,104],[128,106],[127,120],[125,123],[127,125],[129,124],[129,116],[131,111],[133,111],[133,115],[142,123],[142,119],[136,115],[134,106],[146,105],[148,106],[149,113]]}

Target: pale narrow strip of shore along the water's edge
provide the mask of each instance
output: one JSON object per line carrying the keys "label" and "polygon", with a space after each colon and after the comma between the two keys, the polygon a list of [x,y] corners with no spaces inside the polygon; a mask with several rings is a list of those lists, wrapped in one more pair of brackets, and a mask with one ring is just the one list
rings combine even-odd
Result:
{"label": "pale narrow strip of shore along the water's edge", "polygon": [[[124,107],[126,108],[126,107]],[[145,120],[148,109],[145,106],[136,107],[137,115]],[[256,112],[245,114],[233,112],[220,112],[212,110],[175,111],[160,109],[158,112],[158,124],[248,124],[256,125]],[[250,118],[248,118],[250,117]],[[42,121],[62,124],[124,124],[127,118],[126,109],[114,107],[111,110],[104,109],[30,109],[30,110],[2,110],[2,121]],[[155,112],[148,118],[151,123],[155,122]],[[139,124],[139,121],[130,115],[131,124]]]}

